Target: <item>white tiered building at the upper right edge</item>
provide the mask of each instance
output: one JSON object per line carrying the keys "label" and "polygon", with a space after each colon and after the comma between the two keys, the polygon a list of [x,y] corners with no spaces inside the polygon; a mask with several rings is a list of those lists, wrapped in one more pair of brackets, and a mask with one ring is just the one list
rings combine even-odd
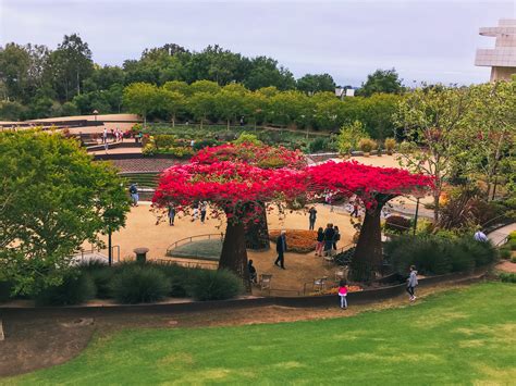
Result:
{"label": "white tiered building at the upper right edge", "polygon": [[497,27],[482,27],[481,36],[495,37],[494,48],[478,49],[475,65],[491,67],[491,82],[516,74],[516,20],[502,18]]}

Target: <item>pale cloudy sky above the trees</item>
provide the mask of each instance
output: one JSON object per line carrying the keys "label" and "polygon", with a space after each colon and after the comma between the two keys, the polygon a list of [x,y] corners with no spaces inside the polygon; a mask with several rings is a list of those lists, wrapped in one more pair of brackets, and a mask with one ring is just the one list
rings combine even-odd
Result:
{"label": "pale cloudy sky above the trees", "polygon": [[78,33],[100,64],[122,64],[147,47],[218,43],[269,55],[296,77],[330,73],[358,86],[376,69],[413,80],[489,79],[475,50],[494,46],[478,28],[515,17],[516,0],[0,0],[0,45],[42,43]]}

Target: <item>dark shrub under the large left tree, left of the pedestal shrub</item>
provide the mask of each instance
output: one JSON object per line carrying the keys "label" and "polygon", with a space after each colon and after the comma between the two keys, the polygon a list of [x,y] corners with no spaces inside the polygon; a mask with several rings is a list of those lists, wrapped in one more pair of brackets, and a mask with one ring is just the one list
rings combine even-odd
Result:
{"label": "dark shrub under the large left tree, left of the pedestal shrub", "polygon": [[95,283],[85,272],[74,272],[59,286],[47,287],[36,296],[39,306],[81,304],[95,297]]}

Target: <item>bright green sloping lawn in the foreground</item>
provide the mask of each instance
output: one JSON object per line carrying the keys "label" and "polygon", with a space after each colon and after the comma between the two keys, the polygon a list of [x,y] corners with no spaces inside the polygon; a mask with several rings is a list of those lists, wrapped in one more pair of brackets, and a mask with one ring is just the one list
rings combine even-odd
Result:
{"label": "bright green sloping lawn in the foreground", "polygon": [[9,382],[514,384],[515,298],[515,285],[487,283],[354,317],[124,331]]}

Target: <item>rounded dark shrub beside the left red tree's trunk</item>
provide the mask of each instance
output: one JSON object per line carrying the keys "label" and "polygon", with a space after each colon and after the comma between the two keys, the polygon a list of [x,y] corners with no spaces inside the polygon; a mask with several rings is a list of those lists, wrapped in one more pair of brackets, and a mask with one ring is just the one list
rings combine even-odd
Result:
{"label": "rounded dark shrub beside the left red tree's trunk", "polygon": [[242,281],[225,270],[202,270],[192,285],[196,300],[224,300],[242,294]]}

